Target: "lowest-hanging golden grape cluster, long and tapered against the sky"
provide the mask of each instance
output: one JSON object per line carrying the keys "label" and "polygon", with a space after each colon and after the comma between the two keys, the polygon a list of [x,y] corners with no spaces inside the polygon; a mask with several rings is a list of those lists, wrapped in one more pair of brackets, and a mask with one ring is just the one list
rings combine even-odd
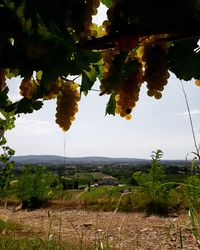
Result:
{"label": "lowest-hanging golden grape cluster, long and tapered against the sky", "polygon": [[78,84],[73,81],[62,81],[60,92],[57,96],[56,123],[63,131],[69,130],[78,112],[80,94]]}

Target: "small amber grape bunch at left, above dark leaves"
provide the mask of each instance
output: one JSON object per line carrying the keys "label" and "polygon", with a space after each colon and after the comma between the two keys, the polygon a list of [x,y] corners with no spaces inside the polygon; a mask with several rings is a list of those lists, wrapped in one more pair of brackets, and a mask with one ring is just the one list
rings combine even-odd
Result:
{"label": "small amber grape bunch at left, above dark leaves", "polygon": [[37,89],[37,81],[30,77],[24,77],[20,84],[20,94],[27,99],[31,99]]}

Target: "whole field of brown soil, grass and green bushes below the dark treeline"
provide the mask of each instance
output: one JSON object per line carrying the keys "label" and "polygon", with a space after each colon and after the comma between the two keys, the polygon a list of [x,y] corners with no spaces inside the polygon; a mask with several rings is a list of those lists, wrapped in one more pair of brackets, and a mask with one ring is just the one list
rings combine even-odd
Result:
{"label": "whole field of brown soil, grass and green bushes below the dark treeline", "polygon": [[200,249],[200,176],[166,173],[159,153],[148,170],[118,178],[5,168],[0,249]]}

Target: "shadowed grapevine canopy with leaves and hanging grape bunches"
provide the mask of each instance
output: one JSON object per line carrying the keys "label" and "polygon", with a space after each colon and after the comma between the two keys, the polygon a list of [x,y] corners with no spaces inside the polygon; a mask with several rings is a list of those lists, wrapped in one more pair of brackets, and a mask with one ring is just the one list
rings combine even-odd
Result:
{"label": "shadowed grapevine canopy with leaves and hanging grape bunches", "polygon": [[[3,129],[13,126],[16,114],[31,113],[43,100],[56,98],[56,123],[67,131],[80,94],[92,90],[97,79],[100,96],[110,95],[106,114],[126,119],[144,83],[156,99],[169,72],[200,85],[199,0],[144,0],[134,6],[131,0],[101,2],[108,8],[107,20],[98,27],[92,15],[100,0],[0,0]],[[6,79],[16,76],[22,79],[22,98],[11,103]]]}

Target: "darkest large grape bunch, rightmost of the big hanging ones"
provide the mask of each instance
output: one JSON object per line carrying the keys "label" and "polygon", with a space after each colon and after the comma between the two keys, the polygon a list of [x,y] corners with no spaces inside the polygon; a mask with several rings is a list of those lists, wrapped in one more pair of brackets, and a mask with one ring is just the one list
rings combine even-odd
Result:
{"label": "darkest large grape bunch, rightmost of the big hanging ones", "polygon": [[143,61],[145,62],[145,81],[147,82],[147,94],[156,99],[162,97],[162,91],[169,78],[167,64],[167,45],[146,45]]}

